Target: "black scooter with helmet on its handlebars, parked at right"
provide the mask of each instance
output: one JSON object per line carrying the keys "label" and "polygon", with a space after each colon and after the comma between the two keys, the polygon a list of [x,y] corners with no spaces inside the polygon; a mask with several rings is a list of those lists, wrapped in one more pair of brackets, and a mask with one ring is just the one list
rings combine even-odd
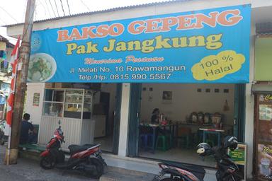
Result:
{"label": "black scooter with helmet on its handlebars, parked at right", "polygon": [[[209,144],[202,143],[197,146],[197,153],[200,156],[214,156],[217,163],[217,181],[242,180],[243,174],[239,172],[238,166],[227,155],[227,148],[232,151],[237,148],[237,138],[226,136],[222,145],[211,148]],[[156,175],[153,181],[203,181],[205,176],[204,168],[196,165],[183,163],[164,162],[159,163],[162,171]],[[165,177],[164,175],[170,175]]]}

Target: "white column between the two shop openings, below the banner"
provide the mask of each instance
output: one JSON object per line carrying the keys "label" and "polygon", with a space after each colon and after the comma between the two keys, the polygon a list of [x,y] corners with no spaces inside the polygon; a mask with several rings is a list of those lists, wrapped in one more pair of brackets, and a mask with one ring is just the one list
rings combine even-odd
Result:
{"label": "white column between the two shop openings, below the banner", "polygon": [[128,113],[130,111],[130,83],[123,83],[122,101],[120,111],[120,136],[118,156],[125,157],[127,155],[128,146]]}

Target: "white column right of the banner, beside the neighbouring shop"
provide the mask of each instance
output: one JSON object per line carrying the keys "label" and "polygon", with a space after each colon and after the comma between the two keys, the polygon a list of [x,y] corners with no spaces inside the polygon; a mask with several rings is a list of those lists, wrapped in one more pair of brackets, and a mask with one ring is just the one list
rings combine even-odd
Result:
{"label": "white column right of the banner, beside the neighbouring shop", "polygon": [[246,177],[252,177],[253,160],[257,159],[253,155],[254,149],[254,95],[251,95],[251,86],[254,81],[254,62],[255,62],[255,25],[251,25],[250,40],[250,68],[249,83],[246,84],[246,117],[245,117],[245,143],[247,144],[246,156]]}

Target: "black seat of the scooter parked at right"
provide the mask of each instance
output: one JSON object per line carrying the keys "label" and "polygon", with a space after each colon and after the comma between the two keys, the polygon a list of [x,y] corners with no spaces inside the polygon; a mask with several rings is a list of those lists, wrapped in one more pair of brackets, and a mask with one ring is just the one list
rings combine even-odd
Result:
{"label": "black seat of the scooter parked at right", "polygon": [[176,163],[171,161],[165,161],[165,165],[169,165],[176,168],[181,168],[182,170],[189,171],[190,173],[193,173],[196,177],[198,177],[199,180],[203,180],[205,176],[205,170],[201,166],[198,165],[191,165],[186,163]]}

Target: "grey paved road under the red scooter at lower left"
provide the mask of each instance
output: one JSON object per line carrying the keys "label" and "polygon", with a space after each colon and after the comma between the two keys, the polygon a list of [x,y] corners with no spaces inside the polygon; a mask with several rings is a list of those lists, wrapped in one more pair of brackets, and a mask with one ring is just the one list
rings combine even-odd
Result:
{"label": "grey paved road under the red scooter at lower left", "polygon": [[43,170],[35,160],[18,159],[17,165],[4,165],[5,147],[0,146],[0,181],[95,181],[89,177],[73,172],[62,175],[62,170]]}

